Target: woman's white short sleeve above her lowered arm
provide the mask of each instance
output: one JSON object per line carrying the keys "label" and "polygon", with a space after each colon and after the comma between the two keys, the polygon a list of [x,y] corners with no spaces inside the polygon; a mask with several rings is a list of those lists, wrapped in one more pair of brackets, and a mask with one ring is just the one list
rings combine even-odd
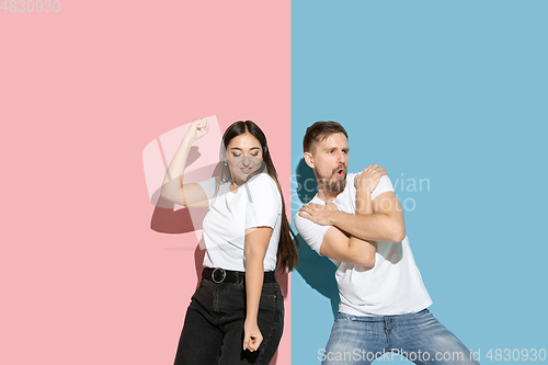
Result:
{"label": "woman's white short sleeve above her lowered arm", "polygon": [[267,174],[260,173],[242,187],[247,190],[248,198],[246,229],[274,228],[282,214],[282,197],[276,182]]}

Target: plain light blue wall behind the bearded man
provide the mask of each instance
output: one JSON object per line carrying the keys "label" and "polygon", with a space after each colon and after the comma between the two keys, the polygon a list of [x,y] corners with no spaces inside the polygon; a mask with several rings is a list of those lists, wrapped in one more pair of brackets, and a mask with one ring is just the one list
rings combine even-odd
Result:
{"label": "plain light blue wall behind the bearded man", "polygon": [[[342,123],[350,172],[378,163],[398,181],[434,316],[482,364],[504,362],[490,349],[548,349],[548,2],[295,0],[292,12],[293,214],[311,197],[296,189],[311,176],[306,127]],[[421,179],[430,189],[413,189]],[[301,246],[292,352],[308,365],[339,298],[334,265]]]}

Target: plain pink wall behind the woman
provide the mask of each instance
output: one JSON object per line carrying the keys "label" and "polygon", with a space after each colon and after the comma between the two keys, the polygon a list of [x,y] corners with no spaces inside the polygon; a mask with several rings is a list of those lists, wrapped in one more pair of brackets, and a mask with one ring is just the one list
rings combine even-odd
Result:
{"label": "plain pink wall behind the woman", "polygon": [[151,229],[142,150],[252,119],[290,207],[290,2],[61,0],[0,11],[0,363],[172,364],[197,242]]}

